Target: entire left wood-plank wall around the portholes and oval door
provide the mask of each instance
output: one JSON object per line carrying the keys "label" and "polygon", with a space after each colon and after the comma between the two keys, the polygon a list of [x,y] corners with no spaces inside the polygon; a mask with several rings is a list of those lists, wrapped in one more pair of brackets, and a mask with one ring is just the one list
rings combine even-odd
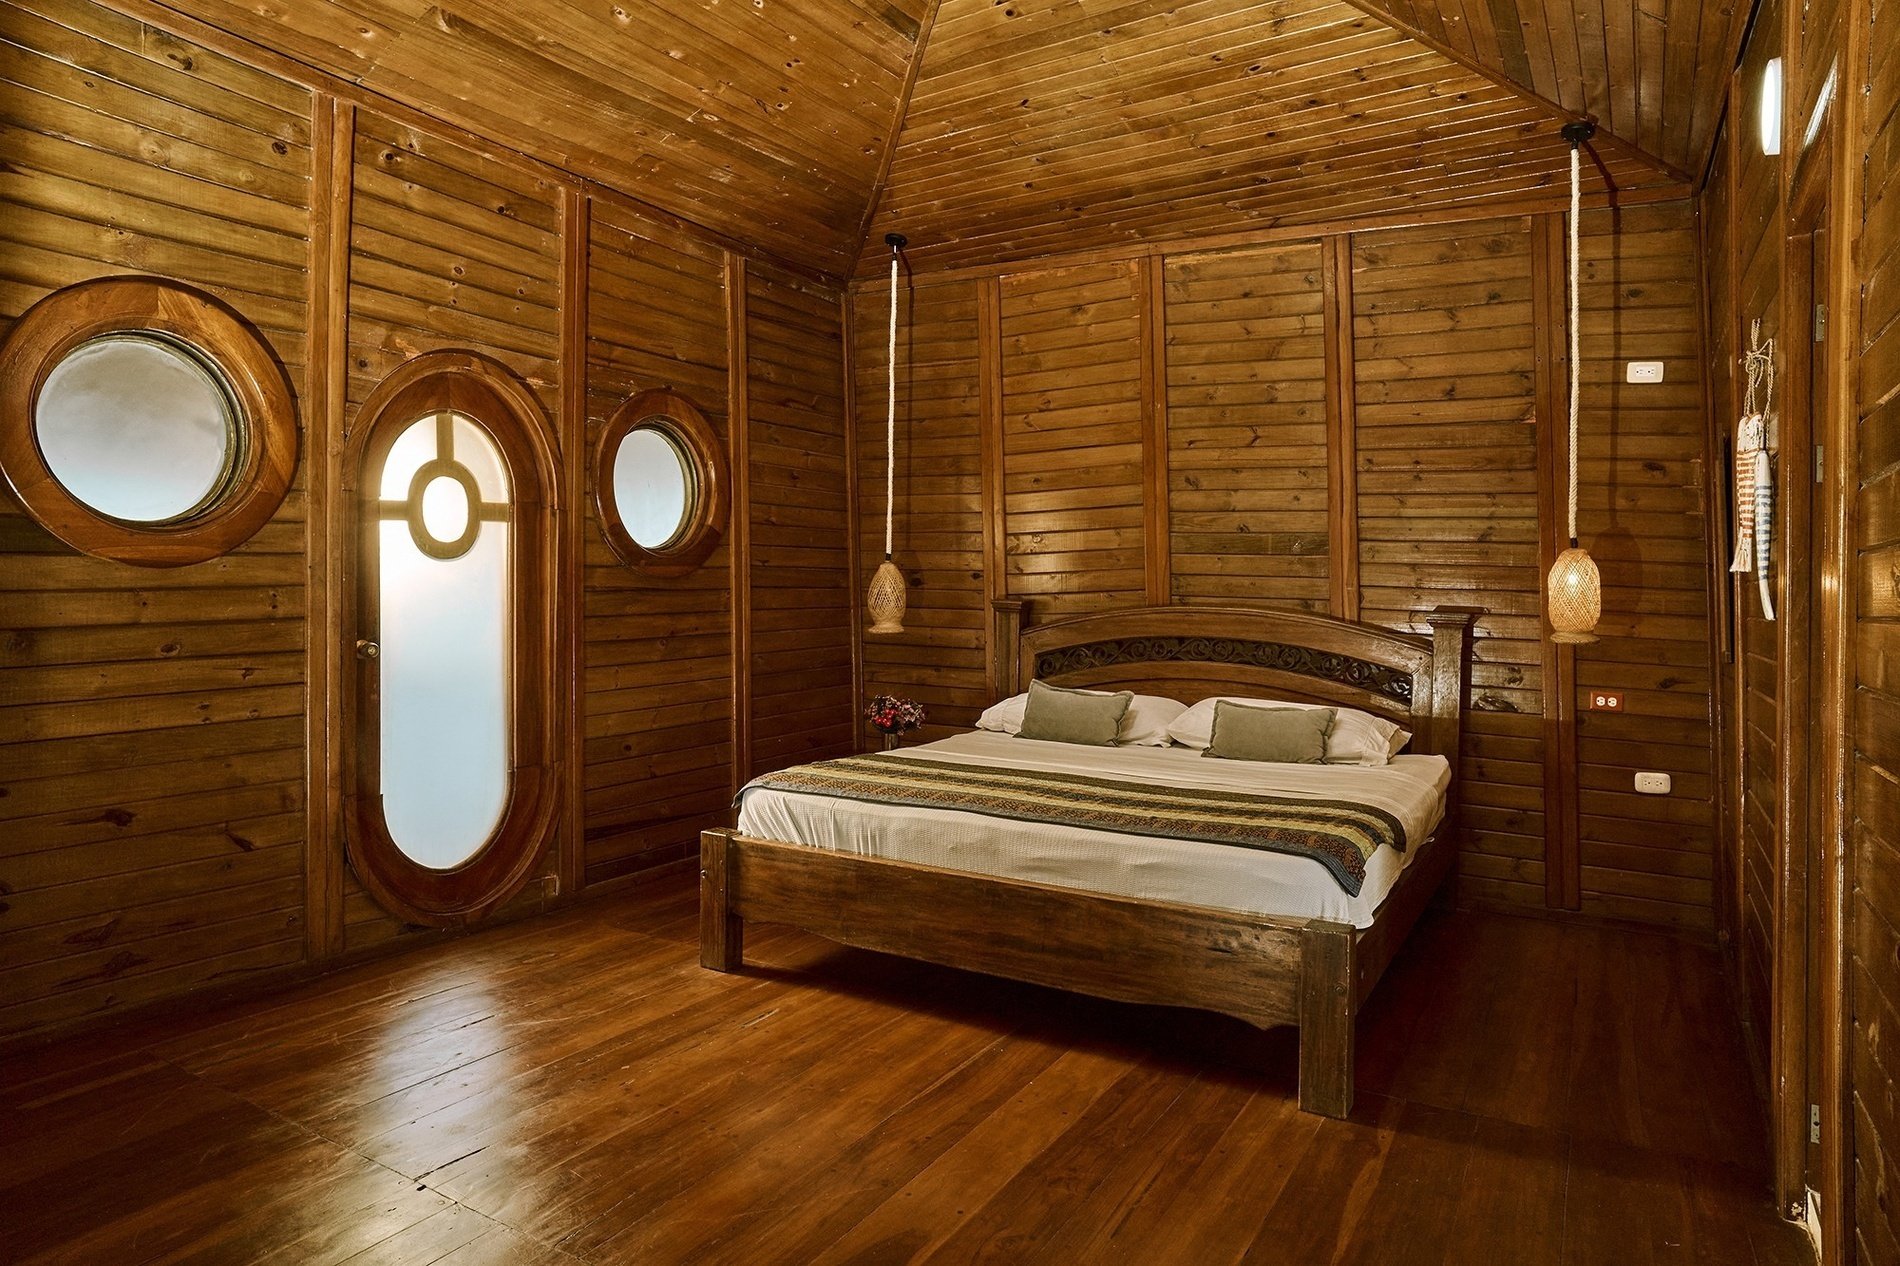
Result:
{"label": "entire left wood-plank wall around the portholes and oval door", "polygon": [[[517,371],[562,464],[574,734],[545,880],[507,914],[686,865],[739,768],[855,741],[840,293],[758,262],[747,283],[749,247],[207,38],[84,0],[13,6],[0,32],[0,327],[86,278],[200,285],[264,333],[302,422],[276,519],[198,566],[76,555],[0,492],[0,1042],[418,939],[344,865],[329,709],[334,454],[420,352]],[[728,435],[749,403],[766,490],[680,580],[619,566],[585,496],[591,443],[652,386]],[[771,614],[735,671],[747,608]],[[735,762],[749,690],[760,738]]]}

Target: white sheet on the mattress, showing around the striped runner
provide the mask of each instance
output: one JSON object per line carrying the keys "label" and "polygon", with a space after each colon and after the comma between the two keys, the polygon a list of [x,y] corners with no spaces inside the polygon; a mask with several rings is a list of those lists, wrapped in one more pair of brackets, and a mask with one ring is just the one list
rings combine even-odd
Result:
{"label": "white sheet on the mattress, showing around the striped runner", "polygon": [[1079,747],[986,730],[904,747],[893,755],[1127,777],[1168,787],[1351,798],[1398,817],[1410,846],[1404,854],[1379,848],[1366,861],[1366,880],[1355,897],[1340,888],[1322,865],[1290,854],[1081,831],[956,810],[866,804],[768,787],[745,793],[739,831],[842,854],[999,874],[1058,888],[1250,914],[1330,918],[1368,928],[1385,893],[1444,817],[1444,793],[1452,781],[1452,766],[1444,757],[1395,757],[1385,768],[1264,764],[1212,760],[1188,747]]}

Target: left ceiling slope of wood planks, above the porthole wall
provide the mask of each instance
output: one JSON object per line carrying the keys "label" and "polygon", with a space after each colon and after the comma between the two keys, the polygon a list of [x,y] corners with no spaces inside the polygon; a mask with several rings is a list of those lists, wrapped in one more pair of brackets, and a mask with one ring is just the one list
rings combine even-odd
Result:
{"label": "left ceiling slope of wood planks, above the porthole wall", "polygon": [[929,0],[165,0],[828,274]]}

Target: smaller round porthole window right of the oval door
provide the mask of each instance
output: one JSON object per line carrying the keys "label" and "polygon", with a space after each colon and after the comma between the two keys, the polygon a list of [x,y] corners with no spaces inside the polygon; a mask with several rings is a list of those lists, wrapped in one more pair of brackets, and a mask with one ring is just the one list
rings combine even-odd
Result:
{"label": "smaller round porthole window right of the oval door", "polygon": [[692,401],[635,395],[595,452],[595,509],[614,553],[650,576],[684,576],[726,530],[726,458]]}

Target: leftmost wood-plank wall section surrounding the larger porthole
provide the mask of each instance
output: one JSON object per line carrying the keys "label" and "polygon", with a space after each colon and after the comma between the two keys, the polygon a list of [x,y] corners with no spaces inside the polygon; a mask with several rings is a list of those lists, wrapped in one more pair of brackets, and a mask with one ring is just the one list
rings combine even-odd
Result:
{"label": "leftmost wood-plank wall section surrounding the larger porthole", "polygon": [[[8,10],[6,40],[4,325],[163,272],[300,384],[312,93],[86,4]],[[302,958],[306,487],[238,551],[146,570],[0,485],[0,1036]]]}

